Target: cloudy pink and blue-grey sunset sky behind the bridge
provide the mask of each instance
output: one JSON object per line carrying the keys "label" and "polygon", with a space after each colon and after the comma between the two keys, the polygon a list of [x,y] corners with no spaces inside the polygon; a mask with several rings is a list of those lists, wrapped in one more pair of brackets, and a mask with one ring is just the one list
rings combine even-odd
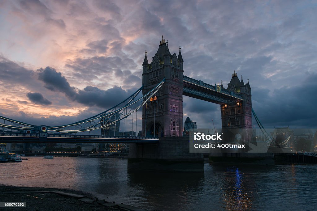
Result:
{"label": "cloudy pink and blue-grey sunset sky behind the bridge", "polygon": [[[142,85],[144,52],[151,62],[164,35],[171,54],[182,47],[184,75],[225,88],[234,70],[249,78],[264,127],[316,128],[316,11],[290,0],[0,1],[0,115],[55,126],[109,109]],[[184,120],[221,128],[219,105],[183,101]]]}

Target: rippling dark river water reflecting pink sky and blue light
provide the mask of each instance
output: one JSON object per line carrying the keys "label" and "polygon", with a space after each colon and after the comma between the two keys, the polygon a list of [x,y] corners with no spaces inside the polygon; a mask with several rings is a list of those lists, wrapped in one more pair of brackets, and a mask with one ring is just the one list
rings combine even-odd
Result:
{"label": "rippling dark river water reflecting pink sky and blue light", "polygon": [[317,209],[317,165],[205,163],[203,173],[158,173],[129,171],[126,159],[25,158],[0,164],[0,184],[75,189],[145,209]]}

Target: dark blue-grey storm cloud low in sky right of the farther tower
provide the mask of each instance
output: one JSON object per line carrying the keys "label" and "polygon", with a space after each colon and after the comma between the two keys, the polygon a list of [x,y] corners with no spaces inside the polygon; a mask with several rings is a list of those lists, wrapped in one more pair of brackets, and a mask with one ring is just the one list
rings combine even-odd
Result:
{"label": "dark blue-grey storm cloud low in sky right of the farther tower", "polygon": [[[317,74],[306,73],[301,85],[275,89],[252,89],[252,107],[267,128],[316,128]],[[255,124],[255,123],[254,123]]]}

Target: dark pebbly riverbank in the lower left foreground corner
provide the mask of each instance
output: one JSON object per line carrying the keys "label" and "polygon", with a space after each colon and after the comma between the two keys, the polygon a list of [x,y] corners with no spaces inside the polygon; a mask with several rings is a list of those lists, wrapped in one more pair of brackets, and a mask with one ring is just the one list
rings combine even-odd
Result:
{"label": "dark pebbly riverbank in the lower left foreground corner", "polygon": [[[94,195],[55,188],[29,188],[0,185],[1,202],[26,202],[27,210],[94,210],[94,211],[142,211],[130,205],[98,199]],[[17,208],[3,208],[16,210]],[[145,211],[145,210],[144,210]]]}

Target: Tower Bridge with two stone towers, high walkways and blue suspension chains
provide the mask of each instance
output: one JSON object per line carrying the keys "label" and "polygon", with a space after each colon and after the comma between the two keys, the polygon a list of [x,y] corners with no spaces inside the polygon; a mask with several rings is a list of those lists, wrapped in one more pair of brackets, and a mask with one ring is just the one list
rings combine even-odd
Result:
{"label": "Tower Bridge with two stone towers, high walkways and blue suspension chains", "polygon": [[[183,96],[220,105],[222,128],[252,128],[251,87],[231,76],[228,87],[211,85],[184,75],[181,47],[178,55],[171,54],[168,41],[160,41],[159,48],[148,62],[145,52],[142,64],[142,86],[118,105],[85,120],[61,126],[32,125],[0,116],[0,140],[10,142],[77,142],[77,143],[133,143],[130,146],[129,166],[147,166],[135,159],[178,160],[195,162],[202,168],[202,155],[189,153],[188,138],[183,136]],[[140,96],[142,92],[142,96]],[[111,125],[134,118],[142,110],[142,137],[102,134]],[[133,120],[132,120],[133,122]],[[259,121],[257,120],[258,124]],[[261,125],[262,126],[262,125]],[[112,127],[116,128],[116,126]],[[264,129],[264,128],[263,128]],[[115,130],[115,129],[114,129]],[[91,134],[94,133],[94,134]],[[99,133],[99,134],[96,134]],[[100,134],[101,133],[101,134]],[[110,131],[109,131],[110,133]],[[173,147],[172,147],[173,146]],[[186,164],[187,165],[187,164]],[[147,168],[146,167],[146,168]],[[196,168],[194,167],[194,168]],[[187,168],[187,167],[186,167]]]}

